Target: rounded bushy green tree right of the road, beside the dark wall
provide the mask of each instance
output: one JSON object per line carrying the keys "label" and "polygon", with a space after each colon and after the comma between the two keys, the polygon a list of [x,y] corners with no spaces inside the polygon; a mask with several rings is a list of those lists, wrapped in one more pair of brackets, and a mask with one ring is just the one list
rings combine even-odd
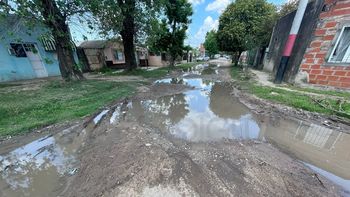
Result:
{"label": "rounded bushy green tree right of the road, beside the dark wall", "polygon": [[274,11],[275,7],[266,0],[236,0],[231,3],[219,19],[219,49],[232,52],[233,62],[238,65],[243,51],[261,45],[264,40],[261,36],[266,36],[265,26],[274,17]]}

